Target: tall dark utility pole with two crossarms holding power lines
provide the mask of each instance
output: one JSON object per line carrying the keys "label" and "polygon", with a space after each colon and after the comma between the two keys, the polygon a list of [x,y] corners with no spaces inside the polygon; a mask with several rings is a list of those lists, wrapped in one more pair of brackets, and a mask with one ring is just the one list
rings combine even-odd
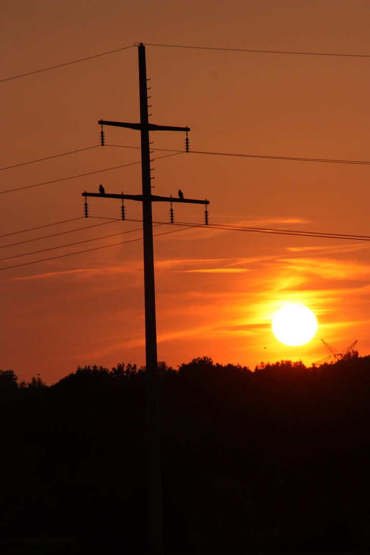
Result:
{"label": "tall dark utility pole with two crossarms holding power lines", "polygon": [[[139,89],[140,89],[140,123],[107,122],[99,120],[99,124],[128,127],[140,130],[141,134],[141,177],[143,194],[101,194],[87,193],[82,195],[137,200],[143,203],[143,239],[144,239],[144,295],[145,295],[145,354],[146,354],[146,414],[148,432],[148,498],[149,498],[149,551],[153,555],[163,555],[163,511],[162,483],[160,458],[160,427],[159,427],[159,395],[158,395],[158,360],[156,344],[155,320],[155,287],[154,287],[154,255],[153,255],[153,220],[151,203],[156,201],[207,204],[207,200],[178,199],[172,196],[151,194],[150,187],[150,145],[149,131],[185,131],[188,127],[169,127],[154,125],[148,121],[148,88],[146,79],[145,47],[140,43],[139,51]],[[103,144],[102,132],[102,144]],[[186,141],[186,148],[187,148]],[[87,216],[87,204],[85,203]],[[206,213],[207,222],[207,213]]]}

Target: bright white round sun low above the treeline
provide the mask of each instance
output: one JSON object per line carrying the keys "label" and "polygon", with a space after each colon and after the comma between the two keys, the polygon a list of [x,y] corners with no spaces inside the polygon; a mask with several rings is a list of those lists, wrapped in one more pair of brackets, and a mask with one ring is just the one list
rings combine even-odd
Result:
{"label": "bright white round sun low above the treeline", "polygon": [[316,316],[304,305],[285,305],[272,319],[273,335],[284,345],[305,345],[311,341],[316,330]]}

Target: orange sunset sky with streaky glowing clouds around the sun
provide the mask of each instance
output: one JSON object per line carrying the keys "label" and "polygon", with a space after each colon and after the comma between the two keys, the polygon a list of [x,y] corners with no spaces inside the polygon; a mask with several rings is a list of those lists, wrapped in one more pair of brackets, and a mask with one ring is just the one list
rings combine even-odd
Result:
{"label": "orange sunset sky with streaky glowing clouds around the sun", "polygon": [[[89,198],[85,219],[82,197],[141,193],[140,133],[105,127],[100,147],[98,125],[139,122],[140,42],[150,123],[191,129],[189,154],[151,132],[153,194],[209,199],[212,224],[339,235],[170,226],[155,203],[154,235],[174,231],[154,238],[158,359],[311,365],[321,338],[370,353],[370,245],[341,238],[370,235],[368,165],[283,159],[370,161],[367,0],[2,0],[0,16],[0,369],[52,384],[145,364],[141,204],[121,221],[120,200]],[[204,223],[202,205],[174,214]],[[307,345],[272,334],[288,302],[316,314]]]}

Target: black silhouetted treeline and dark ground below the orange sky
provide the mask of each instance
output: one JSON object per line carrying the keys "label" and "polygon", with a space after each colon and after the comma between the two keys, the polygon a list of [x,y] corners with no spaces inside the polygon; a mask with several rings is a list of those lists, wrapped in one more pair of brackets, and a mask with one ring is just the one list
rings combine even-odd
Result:
{"label": "black silhouetted treeline and dark ground below the orange sky", "polygon": [[[161,364],[159,387],[166,555],[370,550],[370,357]],[[2,552],[148,552],[143,370],[0,372],[0,449]]]}

